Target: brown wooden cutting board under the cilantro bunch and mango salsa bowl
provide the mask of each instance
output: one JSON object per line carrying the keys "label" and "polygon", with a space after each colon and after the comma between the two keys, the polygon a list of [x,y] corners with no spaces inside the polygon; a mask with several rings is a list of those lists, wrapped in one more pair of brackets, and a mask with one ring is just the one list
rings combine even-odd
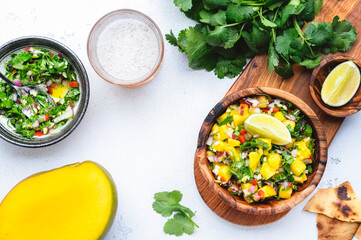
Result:
{"label": "brown wooden cutting board under the cilantro bunch and mango salsa bowl", "polygon": [[[361,0],[323,0],[324,5],[317,15],[315,21],[332,21],[338,15],[340,19],[347,19],[357,28],[359,36],[351,50],[339,55],[351,56],[361,60]],[[309,92],[311,70],[294,65],[295,75],[290,79],[282,79],[276,73],[270,73],[267,69],[267,55],[254,57],[245,70],[233,84],[226,96],[238,90],[248,87],[274,87],[279,88],[301,98],[318,115],[323,123],[328,145],[331,144],[344,118],[335,118],[325,114],[313,101]],[[196,166],[196,164],[195,164]],[[194,168],[194,175],[198,191],[208,207],[223,219],[235,224],[245,226],[256,226],[275,222],[285,216],[288,212],[271,215],[257,216],[239,212],[222,202],[205,183],[198,167]]]}

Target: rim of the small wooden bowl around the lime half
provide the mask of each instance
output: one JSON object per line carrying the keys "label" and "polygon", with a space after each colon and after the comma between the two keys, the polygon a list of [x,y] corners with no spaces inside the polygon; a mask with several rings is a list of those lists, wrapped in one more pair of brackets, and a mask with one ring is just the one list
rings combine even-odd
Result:
{"label": "rim of the small wooden bowl around the lime half", "polygon": [[[317,76],[319,75],[321,69],[326,67],[328,64],[331,64],[333,61],[339,61],[339,63],[337,65],[339,65],[343,62],[346,62],[346,61],[353,61],[361,71],[361,62],[354,57],[346,56],[346,55],[342,55],[342,54],[326,56],[321,60],[320,65],[318,65],[312,71],[311,78],[310,78],[310,84],[309,84],[309,91],[310,91],[313,101],[326,114],[333,116],[333,117],[347,117],[347,116],[355,114],[361,110],[361,101],[355,101],[355,98],[357,97],[357,95],[361,94],[361,85],[359,86],[355,95],[350,99],[350,101],[348,101],[345,105],[340,106],[340,107],[331,107],[331,106],[326,105],[322,101],[321,92],[315,90],[316,79],[317,79]],[[325,81],[325,79],[323,79],[321,83],[323,84],[324,81]],[[321,88],[322,88],[322,86],[321,86]],[[353,104],[355,102],[356,102],[356,105]]]}

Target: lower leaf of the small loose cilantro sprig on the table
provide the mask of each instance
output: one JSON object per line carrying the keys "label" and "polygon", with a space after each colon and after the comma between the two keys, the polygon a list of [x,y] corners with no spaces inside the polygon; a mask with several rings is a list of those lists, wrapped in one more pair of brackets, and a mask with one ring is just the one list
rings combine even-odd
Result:
{"label": "lower leaf of the small loose cilantro sprig on the table", "polygon": [[190,235],[194,232],[194,224],[184,213],[177,213],[166,222],[163,230],[165,233],[177,237],[182,236],[183,233]]}

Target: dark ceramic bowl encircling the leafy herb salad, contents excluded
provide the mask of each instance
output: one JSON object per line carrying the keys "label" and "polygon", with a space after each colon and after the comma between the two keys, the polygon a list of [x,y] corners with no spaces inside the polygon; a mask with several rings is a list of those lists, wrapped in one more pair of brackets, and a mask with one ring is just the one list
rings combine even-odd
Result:
{"label": "dark ceramic bowl encircling the leafy herb salad, contents excluded", "polygon": [[79,81],[80,98],[74,118],[71,119],[66,125],[64,125],[61,131],[59,131],[58,133],[54,133],[40,138],[28,139],[15,134],[14,132],[8,130],[6,127],[0,124],[0,137],[8,142],[21,147],[46,147],[57,143],[69,136],[69,134],[74,131],[74,129],[79,125],[80,121],[82,120],[89,102],[88,75],[82,62],[72,50],[70,50],[68,47],[58,41],[41,36],[21,37],[5,43],[3,46],[0,47],[0,62],[3,62],[4,59],[7,59],[10,54],[26,47],[41,47],[61,53],[63,57],[65,57],[74,67]]}

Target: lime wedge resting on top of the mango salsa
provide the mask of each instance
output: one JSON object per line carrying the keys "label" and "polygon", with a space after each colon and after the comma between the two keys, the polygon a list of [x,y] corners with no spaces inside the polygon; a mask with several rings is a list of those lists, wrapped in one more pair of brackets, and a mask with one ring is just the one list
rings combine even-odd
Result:
{"label": "lime wedge resting on top of the mango salsa", "polygon": [[290,131],[277,118],[267,114],[252,114],[244,122],[244,128],[252,135],[270,138],[272,143],[287,145],[292,141]]}

